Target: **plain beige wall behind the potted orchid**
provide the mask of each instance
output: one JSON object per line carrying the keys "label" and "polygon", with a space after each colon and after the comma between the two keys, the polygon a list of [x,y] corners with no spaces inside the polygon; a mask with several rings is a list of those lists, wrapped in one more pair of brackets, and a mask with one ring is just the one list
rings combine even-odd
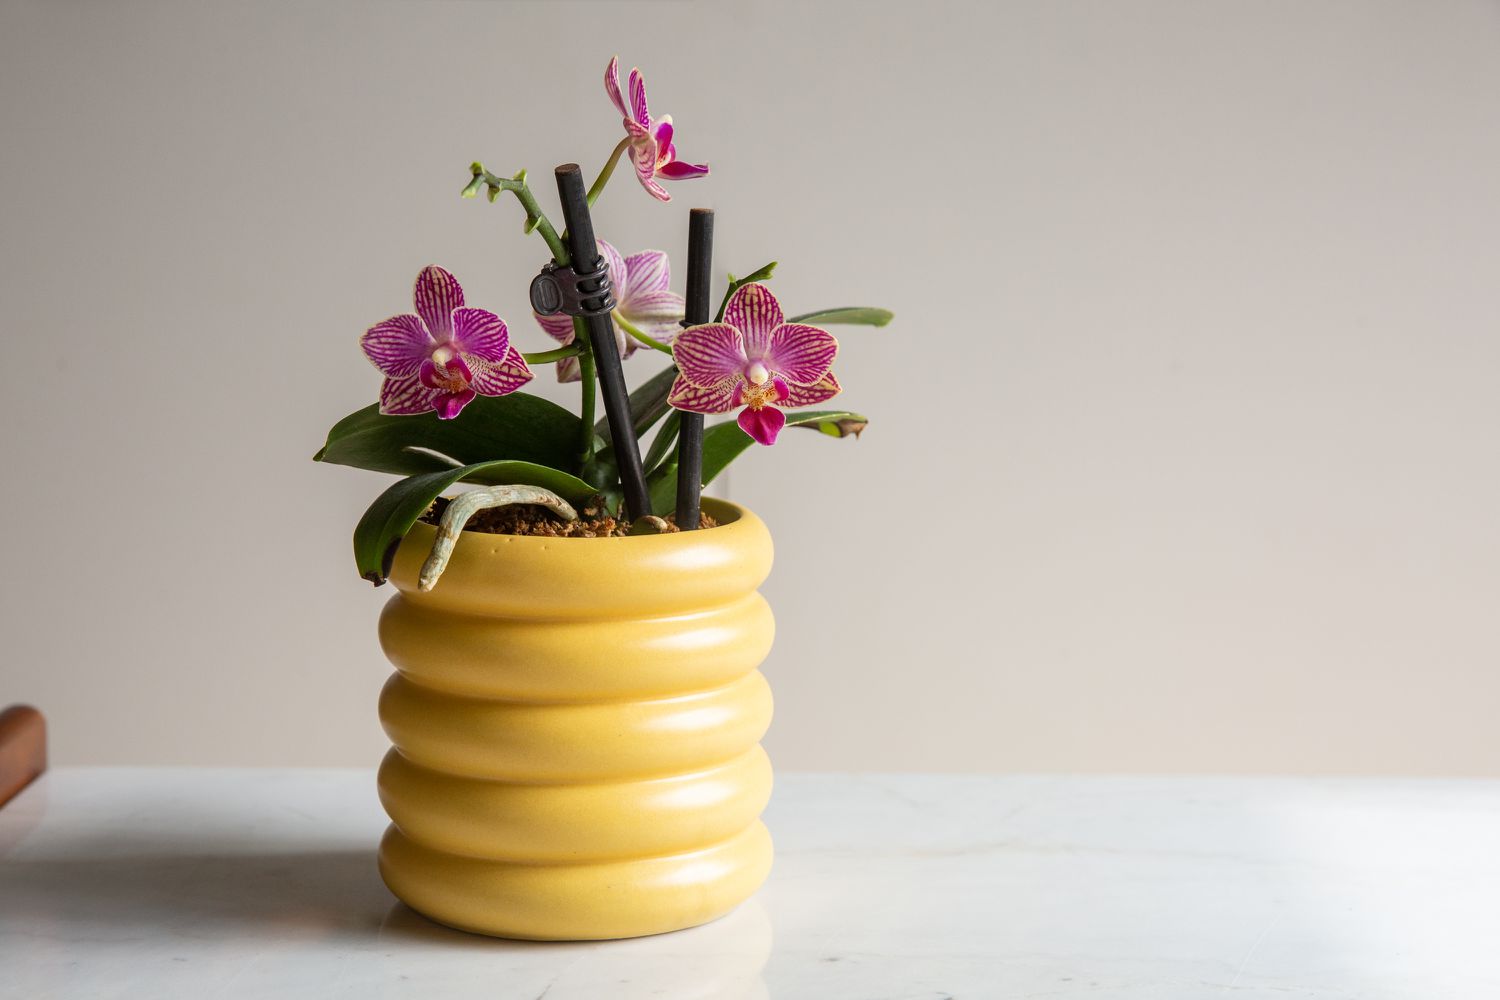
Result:
{"label": "plain beige wall behind the potted orchid", "polygon": [[728,486],[778,766],[1500,774],[1500,6],[1460,0],[4,0],[0,702],[57,762],[380,759],[386,478],[309,456],[423,264],[544,343],[540,241],[458,190],[597,169],[614,52],[714,175],[618,178],[603,235],[712,205],[720,270],[898,315],[842,331],[864,438]]}

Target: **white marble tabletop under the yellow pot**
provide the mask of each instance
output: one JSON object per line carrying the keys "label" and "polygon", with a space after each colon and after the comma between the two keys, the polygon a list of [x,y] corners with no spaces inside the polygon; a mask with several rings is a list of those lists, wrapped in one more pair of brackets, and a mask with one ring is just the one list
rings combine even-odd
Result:
{"label": "white marble tabletop under the yellow pot", "polygon": [[0,997],[1500,996],[1500,783],[783,775],[692,931],[448,931],[364,771],[62,769],[0,810]]}

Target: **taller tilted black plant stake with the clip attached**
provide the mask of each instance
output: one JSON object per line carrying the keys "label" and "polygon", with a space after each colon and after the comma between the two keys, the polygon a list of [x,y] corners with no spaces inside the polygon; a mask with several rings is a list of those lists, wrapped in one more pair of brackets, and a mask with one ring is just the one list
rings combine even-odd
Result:
{"label": "taller tilted black plant stake with the clip attached", "polygon": [[573,273],[579,279],[578,288],[584,294],[594,295],[582,315],[594,363],[598,366],[598,387],[604,394],[609,439],[615,447],[620,486],[626,493],[626,517],[634,520],[651,513],[651,496],[640,465],[640,447],[636,444],[630,394],[626,391],[626,373],[620,366],[620,348],[615,345],[615,328],[609,319],[609,310],[614,307],[610,276],[594,240],[594,220],[588,214],[582,171],[578,163],[564,163],[556,168],[556,178],[558,196],[562,199],[562,220],[567,223],[567,249],[573,258]]}

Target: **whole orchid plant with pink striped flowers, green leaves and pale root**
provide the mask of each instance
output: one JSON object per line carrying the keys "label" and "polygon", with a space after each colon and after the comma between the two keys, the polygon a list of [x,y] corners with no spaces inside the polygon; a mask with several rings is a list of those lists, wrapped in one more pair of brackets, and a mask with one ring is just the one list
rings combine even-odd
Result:
{"label": "whole orchid plant with pink striped flowers, green leaves and pale root", "polygon": [[[624,136],[588,189],[588,205],[626,156],[640,186],[662,202],[672,199],[662,181],[708,175],[706,163],[678,159],[672,117],[652,117],[639,69],[630,70],[621,88],[618,60],[610,60],[604,93],[621,115]],[[570,265],[567,244],[543,213],[525,171],[500,177],[474,163],[462,195],[474,198],[482,190],[492,202],[506,192],[514,195],[526,214],[524,231],[546,241],[554,265]],[[842,391],[832,373],[838,342],[824,327],[879,327],[890,322],[890,312],[824,309],[788,318],[765,283],[776,270],[771,262],[746,277],[730,274],[712,322],[682,328],[684,300],[672,291],[664,252],[627,256],[600,238],[598,253],[612,286],[609,322],[620,357],[644,351],[670,360],[628,396],[628,435],[645,445],[654,432],[650,445],[640,447],[640,465],[633,466],[645,475],[651,502],[650,514],[638,522],[650,520],[660,529],[672,510],[684,412],[735,412],[732,420],[704,429],[702,484],[750,445],[774,445],[786,427],[836,438],[866,427],[866,418],[850,411],[804,408]],[[708,315],[706,304],[700,315]],[[582,336],[584,321],[540,313],[534,319],[556,346],[534,352],[518,348],[516,331],[498,312],[468,304],[458,277],[432,265],[417,274],[412,310],[375,322],[360,337],[366,358],[382,376],[378,402],[336,423],[314,457],[405,477],[376,498],[356,528],[356,562],[366,579],[384,583],[402,537],[438,496],[459,484],[471,489],[444,513],[423,588],[441,574],[462,520],[482,507],[538,504],[572,519],[573,504],[592,502],[610,514],[622,513],[621,462],[636,456],[616,456],[610,445],[615,429],[608,417],[596,421],[598,367],[590,337]],[[536,378],[534,369],[546,364],[555,367],[558,381],[579,384],[578,414],[520,391]]]}

